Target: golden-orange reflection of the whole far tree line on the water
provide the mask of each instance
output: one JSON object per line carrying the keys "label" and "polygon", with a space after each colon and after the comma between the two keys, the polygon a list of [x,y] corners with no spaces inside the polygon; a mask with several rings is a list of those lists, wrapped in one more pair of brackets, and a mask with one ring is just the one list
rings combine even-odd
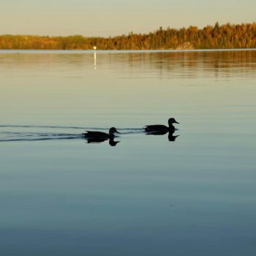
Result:
{"label": "golden-orange reflection of the whole far tree line on the water", "polygon": [[[197,72],[208,75],[234,76],[255,74],[256,51],[199,51],[199,52],[97,52],[97,65],[107,66],[113,71],[132,71],[133,75],[151,75],[159,72],[161,76],[195,77]],[[94,53],[1,53],[1,68],[16,70],[31,69],[39,72],[43,68],[80,69],[94,67]],[[63,70],[62,70],[63,71]]]}

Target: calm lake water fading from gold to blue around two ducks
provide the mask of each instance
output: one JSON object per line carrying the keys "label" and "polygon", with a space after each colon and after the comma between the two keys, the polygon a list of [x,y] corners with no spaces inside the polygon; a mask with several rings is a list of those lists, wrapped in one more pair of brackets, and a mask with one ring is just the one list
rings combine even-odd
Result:
{"label": "calm lake water fading from gold to blue around two ducks", "polygon": [[[256,51],[1,51],[0,70],[0,255],[255,255]],[[141,129],[170,117],[175,141]],[[81,136],[113,126],[116,146]]]}

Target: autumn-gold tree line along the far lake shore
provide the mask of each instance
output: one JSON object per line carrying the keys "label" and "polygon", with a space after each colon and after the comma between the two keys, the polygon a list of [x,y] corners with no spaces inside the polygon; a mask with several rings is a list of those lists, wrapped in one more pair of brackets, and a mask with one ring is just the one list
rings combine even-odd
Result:
{"label": "autumn-gold tree line along the far lake shore", "polygon": [[30,35],[1,35],[0,49],[37,50],[154,50],[154,49],[227,49],[256,48],[256,23],[189,26],[182,29],[162,29],[148,34],[116,37],[44,37]]}

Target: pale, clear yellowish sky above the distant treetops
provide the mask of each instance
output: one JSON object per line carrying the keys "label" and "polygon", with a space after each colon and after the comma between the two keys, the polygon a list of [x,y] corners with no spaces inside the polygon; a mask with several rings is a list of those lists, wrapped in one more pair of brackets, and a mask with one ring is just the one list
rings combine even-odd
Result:
{"label": "pale, clear yellowish sky above the distant treetops", "polygon": [[255,0],[0,0],[0,34],[116,36],[252,23]]}

